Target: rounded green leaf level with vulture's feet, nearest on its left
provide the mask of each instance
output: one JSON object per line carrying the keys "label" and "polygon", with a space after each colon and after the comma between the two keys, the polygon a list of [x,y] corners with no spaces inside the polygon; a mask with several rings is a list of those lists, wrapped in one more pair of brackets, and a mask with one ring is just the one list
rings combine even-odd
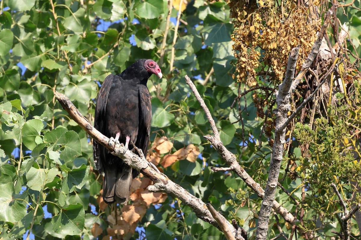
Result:
{"label": "rounded green leaf level with vulture's feet, nearest on its left", "polygon": [[64,148],[61,151],[60,158],[65,163],[73,161],[76,157],[82,154],[82,145],[79,139],[78,133],[74,131],[68,131],[65,133]]}

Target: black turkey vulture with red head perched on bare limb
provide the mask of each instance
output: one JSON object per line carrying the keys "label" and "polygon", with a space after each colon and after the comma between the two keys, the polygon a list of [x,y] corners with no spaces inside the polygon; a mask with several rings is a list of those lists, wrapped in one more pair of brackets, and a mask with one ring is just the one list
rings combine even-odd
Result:
{"label": "black turkey vulture with red head perched on bare limb", "polygon": [[[94,127],[128,148],[130,141],[147,155],[151,130],[151,97],[147,88],[152,74],[162,77],[156,62],[140,59],[119,75],[109,75],[100,88],[95,106]],[[129,200],[132,178],[138,171],[123,164],[104,146],[93,141],[93,157],[99,172],[104,172],[103,199],[111,204]]]}

